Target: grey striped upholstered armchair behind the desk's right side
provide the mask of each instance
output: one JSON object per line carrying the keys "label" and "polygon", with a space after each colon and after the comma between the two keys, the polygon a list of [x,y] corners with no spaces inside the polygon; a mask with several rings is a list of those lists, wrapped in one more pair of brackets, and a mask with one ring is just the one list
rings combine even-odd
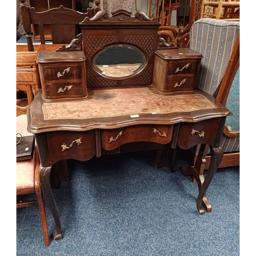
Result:
{"label": "grey striped upholstered armchair behind the desk's right side", "polygon": [[[226,105],[233,79],[239,70],[239,30],[240,22],[219,19],[198,19],[190,29],[189,48],[203,55],[197,81],[197,88],[214,96]],[[239,90],[239,87],[238,87]],[[239,91],[238,91],[239,94]],[[232,102],[233,103],[233,102]],[[239,104],[239,101],[237,102]],[[228,107],[228,105],[227,105]],[[229,118],[236,117],[236,115]],[[239,120],[236,120],[239,123]],[[232,123],[227,119],[226,124]],[[240,133],[233,132],[232,127],[225,126],[220,146],[224,156],[219,167],[239,165]],[[191,149],[192,165],[200,154],[201,145]],[[201,169],[208,169],[210,156],[205,148]],[[205,155],[207,155],[205,157]]]}

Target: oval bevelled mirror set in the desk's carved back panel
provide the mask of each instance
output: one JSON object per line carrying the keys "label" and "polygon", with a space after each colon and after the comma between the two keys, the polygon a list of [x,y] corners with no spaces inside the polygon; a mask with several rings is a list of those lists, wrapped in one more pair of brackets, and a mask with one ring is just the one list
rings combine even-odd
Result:
{"label": "oval bevelled mirror set in the desk's carved back panel", "polygon": [[126,77],[136,74],[146,63],[145,55],[131,45],[112,45],[98,52],[93,66],[104,76]]}

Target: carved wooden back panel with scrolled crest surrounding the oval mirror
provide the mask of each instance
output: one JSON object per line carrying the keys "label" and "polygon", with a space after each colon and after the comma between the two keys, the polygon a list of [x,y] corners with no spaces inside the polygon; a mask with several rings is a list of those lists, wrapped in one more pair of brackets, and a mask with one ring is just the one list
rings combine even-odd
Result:
{"label": "carved wooden back panel with scrolled crest surrounding the oval mirror", "polygon": [[[152,84],[154,53],[157,47],[157,30],[160,24],[149,19],[143,12],[135,16],[120,10],[108,17],[99,11],[93,18],[85,18],[80,23],[83,37],[83,51],[86,55],[88,88],[135,87]],[[111,44],[128,44],[137,47],[146,57],[146,65],[132,76],[108,78],[93,67],[94,56]]]}

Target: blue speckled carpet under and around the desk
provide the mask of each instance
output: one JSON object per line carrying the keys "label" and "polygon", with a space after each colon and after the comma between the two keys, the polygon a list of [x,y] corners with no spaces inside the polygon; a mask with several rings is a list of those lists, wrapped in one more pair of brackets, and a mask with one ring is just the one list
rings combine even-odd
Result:
{"label": "blue speckled carpet under and around the desk", "polygon": [[155,169],[154,158],[152,151],[70,160],[69,182],[53,190],[62,239],[45,248],[37,206],[17,209],[16,255],[240,255],[239,166],[218,170],[207,190],[212,212],[200,215],[197,184]]}

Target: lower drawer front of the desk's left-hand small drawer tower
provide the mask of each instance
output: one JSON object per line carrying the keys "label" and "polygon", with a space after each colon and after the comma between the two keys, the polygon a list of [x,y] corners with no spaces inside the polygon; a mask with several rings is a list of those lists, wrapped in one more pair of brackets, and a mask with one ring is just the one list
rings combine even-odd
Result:
{"label": "lower drawer front of the desk's left-hand small drawer tower", "polygon": [[83,95],[86,92],[82,82],[45,83],[42,90],[45,99],[78,98],[87,95]]}

